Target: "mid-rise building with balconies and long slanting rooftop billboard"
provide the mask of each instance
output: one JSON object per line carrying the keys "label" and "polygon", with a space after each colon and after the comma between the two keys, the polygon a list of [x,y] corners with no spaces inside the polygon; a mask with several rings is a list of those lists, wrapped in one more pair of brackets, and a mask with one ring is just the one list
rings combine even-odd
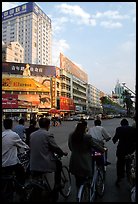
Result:
{"label": "mid-rise building with balconies and long slanting rooftop billboard", "polygon": [[75,112],[84,113],[87,107],[88,75],[60,53],[61,96],[73,99]]}

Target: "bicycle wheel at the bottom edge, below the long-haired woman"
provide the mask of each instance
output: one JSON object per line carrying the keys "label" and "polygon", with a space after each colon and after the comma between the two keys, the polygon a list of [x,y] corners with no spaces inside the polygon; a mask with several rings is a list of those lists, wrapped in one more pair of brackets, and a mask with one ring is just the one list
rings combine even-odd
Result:
{"label": "bicycle wheel at the bottom edge, below the long-haired woman", "polygon": [[78,202],[90,202],[90,184],[84,183],[78,192]]}

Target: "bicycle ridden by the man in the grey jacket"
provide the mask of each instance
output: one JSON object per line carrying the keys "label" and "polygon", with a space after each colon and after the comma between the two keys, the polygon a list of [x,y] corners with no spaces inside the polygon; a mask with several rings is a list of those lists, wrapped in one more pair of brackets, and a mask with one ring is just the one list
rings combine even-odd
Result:
{"label": "bicycle ridden by the man in the grey jacket", "polygon": [[[57,156],[57,159],[61,160],[61,157]],[[48,181],[47,173],[42,173],[36,177],[33,177],[29,183],[25,186],[26,191],[26,201],[47,201],[47,202],[56,202],[58,200],[58,193],[60,193],[64,198],[68,198],[71,193],[71,175],[67,166],[62,165],[61,171],[61,186],[55,195],[54,188],[51,187],[50,182]]]}

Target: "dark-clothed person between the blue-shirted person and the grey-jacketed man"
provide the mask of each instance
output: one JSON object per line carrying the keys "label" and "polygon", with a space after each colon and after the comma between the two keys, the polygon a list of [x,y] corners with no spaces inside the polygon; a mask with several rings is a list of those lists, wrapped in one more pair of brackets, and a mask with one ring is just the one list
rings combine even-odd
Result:
{"label": "dark-clothed person between the blue-shirted person and the grey-jacketed man", "polygon": [[30,120],[30,126],[25,129],[25,134],[26,134],[26,144],[30,146],[30,134],[36,130],[38,130],[39,127],[36,127],[36,120],[31,119]]}

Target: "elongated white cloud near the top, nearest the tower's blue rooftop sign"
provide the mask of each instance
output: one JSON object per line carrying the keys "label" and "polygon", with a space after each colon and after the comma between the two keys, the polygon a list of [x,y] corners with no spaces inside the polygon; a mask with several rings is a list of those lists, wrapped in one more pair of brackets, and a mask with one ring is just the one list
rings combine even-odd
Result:
{"label": "elongated white cloud near the top, nearest the tower's blue rooftop sign", "polygon": [[92,19],[91,15],[87,12],[85,12],[80,6],[75,5],[69,5],[66,3],[63,3],[61,5],[58,5],[56,8],[58,8],[59,12],[68,14],[71,16],[70,21],[73,21],[78,24],[85,24],[85,25],[96,25],[95,19]]}

